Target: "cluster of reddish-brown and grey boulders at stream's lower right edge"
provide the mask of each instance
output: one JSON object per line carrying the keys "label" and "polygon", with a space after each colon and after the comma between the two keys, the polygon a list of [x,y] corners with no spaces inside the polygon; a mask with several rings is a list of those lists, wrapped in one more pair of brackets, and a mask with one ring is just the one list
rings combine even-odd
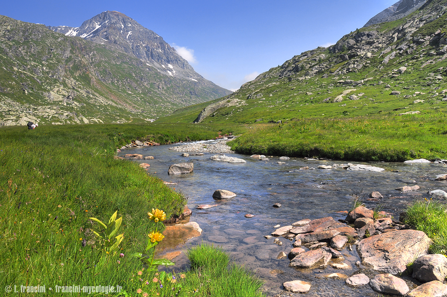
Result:
{"label": "cluster of reddish-brown and grey boulders at stream's lower right edge", "polygon": [[[279,225],[275,226],[280,227]],[[392,220],[385,212],[359,206],[348,213],[345,220],[335,221],[332,217],[316,220],[304,219],[276,229],[265,238],[283,245],[279,237],[293,240],[288,254],[281,252],[278,259],[288,258],[289,267],[324,269],[328,265],[335,269],[348,269],[341,251],[353,250],[356,246],[363,264],[376,274],[372,279],[363,273],[346,276],[341,273],[325,275],[327,278],[346,280],[350,286],[369,284],[376,292],[407,295],[412,297],[444,296],[447,285],[447,258],[444,255],[428,255],[430,238],[422,231],[410,229],[400,221]],[[413,263],[414,262],[414,263]],[[411,265],[413,263],[413,265]],[[412,266],[414,285],[410,290],[407,282],[399,278]],[[379,272],[379,274],[377,274]],[[368,273],[369,274],[369,273]],[[295,293],[308,292],[312,284],[302,280],[288,281],[284,289]]]}

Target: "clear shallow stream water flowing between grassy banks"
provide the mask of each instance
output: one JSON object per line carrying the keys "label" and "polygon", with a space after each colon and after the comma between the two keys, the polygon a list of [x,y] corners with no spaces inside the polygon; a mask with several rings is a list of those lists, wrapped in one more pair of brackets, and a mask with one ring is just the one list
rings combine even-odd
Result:
{"label": "clear shallow stream water flowing between grassy banks", "polygon": [[[210,141],[212,142],[212,141]],[[176,144],[181,145],[181,144]],[[434,181],[438,174],[447,171],[442,164],[407,163],[369,163],[384,168],[384,172],[349,171],[341,168],[330,170],[299,170],[304,166],[316,168],[318,165],[333,165],[347,161],[311,161],[302,158],[279,160],[269,157],[269,161],[259,161],[247,155],[226,153],[230,157],[242,158],[247,163],[227,163],[211,161],[214,154],[181,157],[181,153],[160,145],[143,148],[123,149],[120,156],[139,153],[153,156],[154,160],[135,160],[149,163],[148,173],[167,182],[177,182],[171,186],[188,197],[188,207],[193,211],[190,221],[197,222],[203,229],[202,235],[189,240],[186,246],[203,242],[222,246],[237,263],[244,264],[266,281],[263,289],[267,296],[290,292],[283,291],[283,282],[304,280],[312,284],[307,296],[377,296],[370,286],[351,288],[344,280],[327,279],[324,276],[333,272],[348,276],[355,272],[365,272],[363,266],[356,267],[358,257],[354,250],[342,250],[343,262],[351,268],[338,270],[328,266],[325,269],[296,269],[288,267],[288,259],[276,259],[281,251],[288,252],[292,241],[280,237],[282,246],[273,243],[274,238],[266,239],[275,230],[273,226],[291,225],[302,219],[317,219],[332,216],[334,220],[346,218],[354,200],[358,197],[368,208],[380,205],[398,220],[399,212],[415,199],[424,199],[429,190],[446,190],[446,182]],[[283,161],[285,164],[277,164]],[[168,175],[169,165],[180,162],[193,162],[194,171],[189,174]],[[368,164],[365,162],[351,162]],[[421,187],[418,191],[402,193],[397,187]],[[229,190],[237,194],[233,199],[215,201],[212,194],[217,189]],[[379,191],[384,198],[368,201],[372,191]],[[272,207],[280,203],[280,208]],[[206,210],[196,209],[198,204],[219,204]],[[246,218],[245,214],[254,215]],[[183,246],[184,247],[184,246]],[[179,250],[181,247],[177,247]],[[171,250],[172,251],[172,250]],[[188,266],[188,259],[181,253],[174,261],[176,269]],[[360,271],[360,272],[359,272]],[[409,283],[411,289],[411,283]],[[292,293],[291,296],[295,296]]]}

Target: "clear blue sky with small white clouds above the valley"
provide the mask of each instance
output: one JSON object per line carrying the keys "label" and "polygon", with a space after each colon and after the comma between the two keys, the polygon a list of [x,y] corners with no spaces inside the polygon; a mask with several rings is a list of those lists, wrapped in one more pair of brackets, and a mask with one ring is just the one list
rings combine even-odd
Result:
{"label": "clear blue sky with small white clouds above the valley", "polygon": [[3,0],[0,14],[77,27],[116,10],[153,30],[202,76],[238,89],[294,55],[334,44],[397,0]]}

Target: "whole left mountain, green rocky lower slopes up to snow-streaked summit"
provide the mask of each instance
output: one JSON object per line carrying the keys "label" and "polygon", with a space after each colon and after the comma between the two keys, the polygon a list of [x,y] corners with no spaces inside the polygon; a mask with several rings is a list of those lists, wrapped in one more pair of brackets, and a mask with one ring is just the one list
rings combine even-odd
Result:
{"label": "whole left mountain, green rocky lower slopes up to snow-streaked summit", "polygon": [[78,28],[0,16],[0,125],[150,122],[232,93],[162,37],[105,11]]}

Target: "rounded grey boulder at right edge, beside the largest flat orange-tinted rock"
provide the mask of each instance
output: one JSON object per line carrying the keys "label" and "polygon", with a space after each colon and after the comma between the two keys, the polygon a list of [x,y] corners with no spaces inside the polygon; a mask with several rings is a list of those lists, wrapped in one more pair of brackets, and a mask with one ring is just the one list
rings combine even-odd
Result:
{"label": "rounded grey boulder at right edge, beside the largest flat orange-tinted rock", "polygon": [[413,263],[413,278],[423,283],[439,280],[447,276],[447,259],[444,255],[423,255]]}

